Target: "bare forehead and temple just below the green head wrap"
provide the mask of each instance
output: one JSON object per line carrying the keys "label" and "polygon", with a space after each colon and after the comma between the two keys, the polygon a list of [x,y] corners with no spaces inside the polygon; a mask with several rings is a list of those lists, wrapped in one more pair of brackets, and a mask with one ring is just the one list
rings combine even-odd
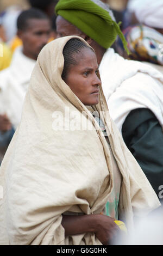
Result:
{"label": "bare forehead and temple just below the green head wrap", "polygon": [[58,16],[56,19],[56,27],[57,27],[57,33],[66,35],[79,35],[80,31],[79,29],[72,25],[69,21],[66,21],[61,16]]}

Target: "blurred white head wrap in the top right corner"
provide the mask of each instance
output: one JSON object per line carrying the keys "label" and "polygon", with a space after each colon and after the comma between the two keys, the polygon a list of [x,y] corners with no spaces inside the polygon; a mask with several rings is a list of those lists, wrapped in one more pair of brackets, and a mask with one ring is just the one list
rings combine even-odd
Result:
{"label": "blurred white head wrap in the top right corner", "polygon": [[163,28],[163,0],[131,0],[128,9],[135,13],[140,23],[153,28]]}

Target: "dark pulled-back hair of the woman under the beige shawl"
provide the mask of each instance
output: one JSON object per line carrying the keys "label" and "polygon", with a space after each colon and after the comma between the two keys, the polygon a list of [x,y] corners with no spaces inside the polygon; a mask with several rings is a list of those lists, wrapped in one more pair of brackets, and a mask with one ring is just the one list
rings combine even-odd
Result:
{"label": "dark pulled-back hair of the woman under the beige shawl", "polygon": [[61,75],[62,80],[66,79],[67,72],[70,69],[70,66],[78,64],[76,54],[81,53],[82,48],[90,48],[90,50],[92,50],[90,46],[86,45],[84,41],[78,38],[72,38],[66,43],[63,50],[63,56],[65,61],[64,61],[64,69]]}

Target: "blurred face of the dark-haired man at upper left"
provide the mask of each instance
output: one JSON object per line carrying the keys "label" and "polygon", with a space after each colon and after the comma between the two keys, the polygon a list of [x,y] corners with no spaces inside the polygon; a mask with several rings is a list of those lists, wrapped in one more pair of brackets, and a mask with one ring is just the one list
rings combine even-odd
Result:
{"label": "blurred face of the dark-haired man at upper left", "polygon": [[36,60],[51,36],[51,23],[48,19],[29,19],[27,22],[27,28],[18,32],[18,36],[23,42],[23,53]]}

